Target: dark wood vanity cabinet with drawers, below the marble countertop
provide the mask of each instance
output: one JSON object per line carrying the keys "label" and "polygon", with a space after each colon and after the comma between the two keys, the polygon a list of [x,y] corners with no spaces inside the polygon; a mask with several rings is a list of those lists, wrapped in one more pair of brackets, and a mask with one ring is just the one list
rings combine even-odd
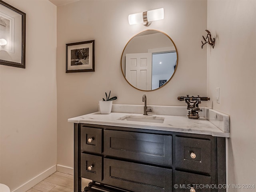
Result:
{"label": "dark wood vanity cabinet with drawers, below the marble countertop", "polygon": [[209,188],[226,183],[225,138],[93,124],[74,131],[75,192],[81,178],[119,192],[225,191]]}

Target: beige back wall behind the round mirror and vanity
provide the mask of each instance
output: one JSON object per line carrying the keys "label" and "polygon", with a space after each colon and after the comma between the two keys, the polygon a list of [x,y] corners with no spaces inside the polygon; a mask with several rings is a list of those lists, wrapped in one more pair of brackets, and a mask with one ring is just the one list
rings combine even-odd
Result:
{"label": "beige back wall behind the round mirror and vanity", "polygon": [[[164,20],[129,25],[129,14],[156,8],[164,8]],[[82,0],[57,7],[58,164],[73,167],[73,124],[67,119],[96,112],[104,92],[118,97],[115,104],[143,104],[144,93],[149,105],[168,106],[185,106],[178,96],[206,96],[206,48],[201,48],[206,24],[206,0]],[[132,88],[120,67],[126,42],[146,29],[168,34],[179,56],[172,80],[152,92]],[[65,73],[65,45],[86,40],[95,40],[95,72]]]}

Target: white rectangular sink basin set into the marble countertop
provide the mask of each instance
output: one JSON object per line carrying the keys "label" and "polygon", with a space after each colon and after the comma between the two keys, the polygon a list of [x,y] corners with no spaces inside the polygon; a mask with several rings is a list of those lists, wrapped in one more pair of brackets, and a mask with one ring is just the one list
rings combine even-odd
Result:
{"label": "white rectangular sink basin set into the marble countertop", "polygon": [[164,117],[157,117],[157,116],[151,116],[151,115],[144,115],[144,116],[126,115],[126,116],[119,118],[118,120],[149,122],[149,123],[163,123]]}

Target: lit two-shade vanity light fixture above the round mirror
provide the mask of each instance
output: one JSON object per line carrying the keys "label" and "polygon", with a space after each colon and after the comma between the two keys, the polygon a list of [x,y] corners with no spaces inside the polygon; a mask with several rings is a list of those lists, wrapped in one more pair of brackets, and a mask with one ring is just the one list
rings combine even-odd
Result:
{"label": "lit two-shade vanity light fixture above the round mirror", "polygon": [[128,16],[128,21],[130,25],[142,23],[145,26],[150,26],[152,21],[161,19],[164,19],[164,8],[130,14]]}

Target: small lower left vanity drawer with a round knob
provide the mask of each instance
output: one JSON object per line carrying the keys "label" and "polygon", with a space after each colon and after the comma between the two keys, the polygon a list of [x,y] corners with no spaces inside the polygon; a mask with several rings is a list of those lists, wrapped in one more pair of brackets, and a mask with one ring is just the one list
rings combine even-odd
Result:
{"label": "small lower left vanity drawer with a round knob", "polygon": [[102,181],[102,157],[81,153],[81,177]]}

